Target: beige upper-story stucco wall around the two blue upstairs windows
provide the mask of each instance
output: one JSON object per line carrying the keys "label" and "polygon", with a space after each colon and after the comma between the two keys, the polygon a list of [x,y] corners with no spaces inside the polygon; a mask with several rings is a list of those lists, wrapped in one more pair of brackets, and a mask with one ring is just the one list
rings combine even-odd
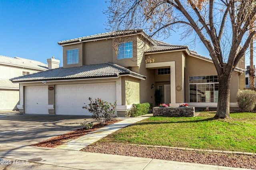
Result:
{"label": "beige upper-story stucco wall around the two blue upstairs windows", "polygon": [[[120,43],[132,41],[132,54],[130,59],[117,59],[116,45]],[[149,46],[145,46],[142,35],[124,36],[115,39],[100,39],[96,41],[88,41],[73,45],[63,46],[63,67],[74,67],[90,64],[102,64],[112,62],[124,67],[140,66],[144,59],[144,50]],[[66,64],[66,51],[70,49],[78,49],[78,64]]]}

